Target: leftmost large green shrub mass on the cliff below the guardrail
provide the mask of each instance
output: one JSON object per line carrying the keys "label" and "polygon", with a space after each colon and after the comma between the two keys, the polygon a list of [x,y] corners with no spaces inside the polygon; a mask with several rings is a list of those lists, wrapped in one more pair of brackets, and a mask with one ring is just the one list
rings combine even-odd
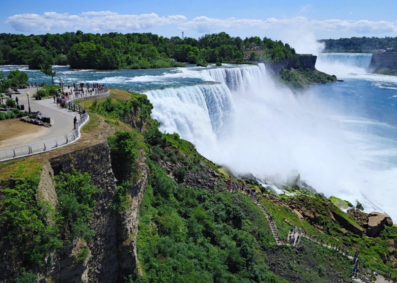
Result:
{"label": "leftmost large green shrub mass on the cliff below the guardrail", "polygon": [[60,248],[62,242],[60,215],[48,203],[36,200],[38,184],[38,177],[29,177],[2,190],[0,223],[2,231],[7,231],[5,238],[12,246],[10,253],[41,266],[44,257]]}

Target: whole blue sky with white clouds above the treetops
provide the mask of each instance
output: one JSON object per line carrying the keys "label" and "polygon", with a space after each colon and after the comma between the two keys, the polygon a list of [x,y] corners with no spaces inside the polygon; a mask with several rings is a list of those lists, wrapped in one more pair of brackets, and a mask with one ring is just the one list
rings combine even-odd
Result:
{"label": "whole blue sky with white clouds above the treetops", "polygon": [[[395,0],[0,0],[0,33],[259,36],[310,53],[317,39],[397,37]],[[306,50],[307,49],[307,50]],[[311,53],[314,53],[311,52]]]}

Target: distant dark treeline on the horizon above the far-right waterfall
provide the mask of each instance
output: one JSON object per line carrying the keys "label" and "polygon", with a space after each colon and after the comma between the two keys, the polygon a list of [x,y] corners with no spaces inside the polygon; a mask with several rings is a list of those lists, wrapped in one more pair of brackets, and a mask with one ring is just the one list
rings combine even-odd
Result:
{"label": "distant dark treeline on the horizon above the far-right waterfall", "polygon": [[325,43],[324,52],[373,53],[379,50],[387,50],[388,48],[397,48],[397,37],[352,37],[323,39],[319,40],[319,42]]}

